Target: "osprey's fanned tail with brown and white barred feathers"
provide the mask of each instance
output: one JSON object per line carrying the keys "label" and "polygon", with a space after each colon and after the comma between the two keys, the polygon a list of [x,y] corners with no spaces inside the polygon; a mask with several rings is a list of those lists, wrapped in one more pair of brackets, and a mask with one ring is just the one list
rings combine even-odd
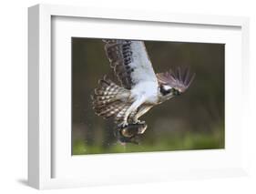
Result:
{"label": "osprey's fanned tail with brown and white barred feathers", "polygon": [[98,81],[98,87],[92,95],[92,103],[95,113],[105,118],[117,116],[127,106],[126,100],[129,90],[119,87],[108,77]]}

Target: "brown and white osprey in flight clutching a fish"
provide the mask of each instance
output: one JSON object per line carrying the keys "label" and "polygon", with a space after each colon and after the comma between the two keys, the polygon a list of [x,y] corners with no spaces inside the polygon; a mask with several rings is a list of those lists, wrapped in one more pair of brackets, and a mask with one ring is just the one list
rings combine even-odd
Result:
{"label": "brown and white osprey in flight clutching a fish", "polygon": [[143,116],[151,107],[185,92],[195,74],[189,69],[155,74],[143,41],[103,40],[110,66],[118,77],[120,86],[107,76],[98,81],[92,95],[97,116],[114,117],[118,124],[118,138],[134,142],[147,128]]}

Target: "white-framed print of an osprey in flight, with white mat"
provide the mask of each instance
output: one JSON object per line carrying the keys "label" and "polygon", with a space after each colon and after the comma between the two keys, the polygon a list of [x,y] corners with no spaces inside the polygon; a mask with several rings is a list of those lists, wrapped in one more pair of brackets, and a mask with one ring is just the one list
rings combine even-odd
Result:
{"label": "white-framed print of an osprey in flight, with white mat", "polygon": [[29,185],[246,175],[247,18],[28,13]]}

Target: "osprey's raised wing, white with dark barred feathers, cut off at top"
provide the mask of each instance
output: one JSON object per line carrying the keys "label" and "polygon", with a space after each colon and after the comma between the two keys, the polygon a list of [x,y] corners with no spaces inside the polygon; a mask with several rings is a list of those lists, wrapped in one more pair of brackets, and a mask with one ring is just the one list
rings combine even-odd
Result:
{"label": "osprey's raised wing, white with dark barred feathers, cut off at top", "polygon": [[131,89],[139,82],[158,82],[154,69],[148,58],[143,41],[103,40],[105,50],[122,87]]}

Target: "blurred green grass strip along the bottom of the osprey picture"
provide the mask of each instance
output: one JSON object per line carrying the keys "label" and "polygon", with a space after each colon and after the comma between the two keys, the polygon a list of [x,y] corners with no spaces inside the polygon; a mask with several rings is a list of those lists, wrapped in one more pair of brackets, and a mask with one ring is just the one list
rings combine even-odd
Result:
{"label": "blurred green grass strip along the bottom of the osprey picture", "polygon": [[[145,137],[144,137],[145,138]],[[119,143],[103,145],[87,145],[83,139],[74,140],[73,155],[152,152],[189,149],[224,148],[224,131],[215,130],[211,133],[185,133],[175,136],[161,136],[156,139],[142,139],[139,145]]]}

